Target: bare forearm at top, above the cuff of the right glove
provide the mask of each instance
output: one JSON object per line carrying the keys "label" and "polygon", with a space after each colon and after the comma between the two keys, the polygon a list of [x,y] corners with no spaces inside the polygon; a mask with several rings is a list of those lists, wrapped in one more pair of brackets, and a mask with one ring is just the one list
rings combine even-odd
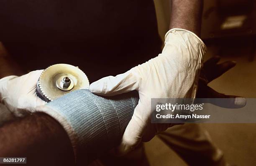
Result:
{"label": "bare forearm at top, above the cuff of the right glove", "polygon": [[171,0],[170,29],[182,28],[200,36],[203,0]]}

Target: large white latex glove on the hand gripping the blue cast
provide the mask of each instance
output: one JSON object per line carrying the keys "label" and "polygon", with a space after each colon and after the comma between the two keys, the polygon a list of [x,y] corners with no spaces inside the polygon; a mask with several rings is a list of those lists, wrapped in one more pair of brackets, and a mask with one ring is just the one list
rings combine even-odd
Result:
{"label": "large white latex glove on the hand gripping the blue cast", "polygon": [[[195,98],[206,46],[194,33],[172,29],[166,33],[161,54],[115,77],[104,77],[90,85],[90,91],[113,96],[137,90],[139,102],[125,129],[120,146],[123,155],[143,139],[148,141],[172,124],[151,124],[151,98]],[[134,59],[136,60],[136,59]],[[124,62],[125,63],[125,62]],[[147,137],[147,138],[145,138]]]}

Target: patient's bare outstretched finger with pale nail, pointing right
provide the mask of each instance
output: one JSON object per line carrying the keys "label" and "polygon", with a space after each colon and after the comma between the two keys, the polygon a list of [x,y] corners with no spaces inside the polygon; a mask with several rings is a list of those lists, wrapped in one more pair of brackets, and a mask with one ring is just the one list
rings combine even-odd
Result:
{"label": "patient's bare outstretched finger with pale nail, pointing right", "polygon": [[[221,94],[208,86],[205,88],[205,93],[207,96],[202,98],[213,98],[209,100],[209,103],[219,107],[242,108],[246,105],[246,99],[244,97]],[[219,102],[219,98],[229,98],[229,100],[225,102]]]}

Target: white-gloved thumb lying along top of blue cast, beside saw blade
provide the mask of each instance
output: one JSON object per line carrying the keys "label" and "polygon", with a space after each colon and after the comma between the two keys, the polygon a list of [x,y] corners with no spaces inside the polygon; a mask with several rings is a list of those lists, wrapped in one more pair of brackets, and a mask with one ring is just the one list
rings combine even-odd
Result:
{"label": "white-gloved thumb lying along top of blue cast, beside saw blade", "polygon": [[117,76],[108,76],[90,84],[89,90],[94,94],[114,96],[138,90],[138,80],[128,71]]}

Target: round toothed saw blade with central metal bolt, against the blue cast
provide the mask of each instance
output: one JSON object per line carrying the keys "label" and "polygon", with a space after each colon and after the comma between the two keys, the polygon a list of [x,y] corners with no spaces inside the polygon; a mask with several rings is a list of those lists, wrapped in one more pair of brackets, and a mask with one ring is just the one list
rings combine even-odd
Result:
{"label": "round toothed saw blade with central metal bolt, against the blue cast", "polygon": [[[72,87],[60,88],[62,79],[68,77]],[[38,96],[51,102],[77,89],[88,89],[89,80],[82,70],[70,64],[54,64],[46,68],[37,82]]]}

